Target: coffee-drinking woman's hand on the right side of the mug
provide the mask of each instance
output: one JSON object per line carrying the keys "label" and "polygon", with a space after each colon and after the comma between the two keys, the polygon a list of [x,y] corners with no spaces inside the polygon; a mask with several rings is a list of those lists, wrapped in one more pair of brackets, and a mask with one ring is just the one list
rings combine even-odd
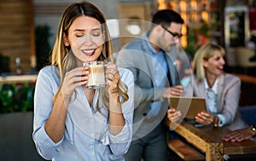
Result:
{"label": "coffee-drinking woman's hand on the right side of the mug", "polygon": [[119,95],[119,71],[117,66],[108,62],[106,66],[106,81],[109,95]]}

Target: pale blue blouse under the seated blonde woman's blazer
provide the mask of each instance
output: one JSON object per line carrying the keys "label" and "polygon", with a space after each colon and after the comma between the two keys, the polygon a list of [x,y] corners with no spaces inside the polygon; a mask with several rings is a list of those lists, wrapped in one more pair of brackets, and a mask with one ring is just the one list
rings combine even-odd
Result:
{"label": "pale blue blouse under the seated blonde woman's blazer", "polygon": [[207,83],[207,79],[204,81],[205,83],[205,88],[207,89],[207,110],[211,112],[212,114],[217,114],[218,116],[218,126],[222,127],[224,124],[227,123],[226,118],[224,117],[223,114],[218,114],[217,113],[217,108],[218,108],[218,78],[214,82],[212,89],[209,88],[209,85]]}

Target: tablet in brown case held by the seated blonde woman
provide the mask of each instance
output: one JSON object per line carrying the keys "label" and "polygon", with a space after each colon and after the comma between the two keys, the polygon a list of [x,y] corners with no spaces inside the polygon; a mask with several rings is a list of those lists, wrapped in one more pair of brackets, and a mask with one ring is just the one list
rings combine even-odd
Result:
{"label": "tablet in brown case held by the seated blonde woman", "polygon": [[206,101],[202,97],[172,96],[169,105],[182,112],[183,118],[194,119],[198,112],[207,112]]}

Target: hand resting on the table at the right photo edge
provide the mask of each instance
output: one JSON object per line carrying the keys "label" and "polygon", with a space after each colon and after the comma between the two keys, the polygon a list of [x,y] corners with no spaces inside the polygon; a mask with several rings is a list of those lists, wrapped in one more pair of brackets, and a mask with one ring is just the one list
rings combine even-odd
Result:
{"label": "hand resting on the table at the right photo edge", "polygon": [[245,129],[236,129],[235,131],[232,131],[223,137],[223,141],[232,141],[232,142],[240,142],[245,141],[253,137],[255,133],[250,127],[247,127]]}

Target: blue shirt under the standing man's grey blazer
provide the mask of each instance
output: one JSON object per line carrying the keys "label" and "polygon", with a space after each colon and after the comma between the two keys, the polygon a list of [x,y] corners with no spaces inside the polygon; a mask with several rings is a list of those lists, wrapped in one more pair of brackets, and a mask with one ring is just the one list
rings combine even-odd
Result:
{"label": "blue shirt under the standing man's grey blazer", "polygon": [[[154,77],[153,83],[154,83],[154,88],[161,88],[161,87],[166,87],[166,75],[168,71],[168,66],[166,63],[166,56],[165,53],[160,50],[159,52],[156,52],[153,47],[148,43],[148,49],[149,49],[149,54],[152,58],[152,66],[154,71]],[[160,107],[162,106],[161,101],[154,101],[150,105],[150,110],[147,114],[147,118],[150,118],[151,116],[156,116],[160,112]]]}

